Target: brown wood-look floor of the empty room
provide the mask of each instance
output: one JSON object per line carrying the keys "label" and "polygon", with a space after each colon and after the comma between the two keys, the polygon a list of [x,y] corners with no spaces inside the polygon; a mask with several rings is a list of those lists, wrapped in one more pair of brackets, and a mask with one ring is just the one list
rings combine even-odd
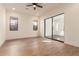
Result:
{"label": "brown wood-look floor of the empty room", "polygon": [[78,56],[79,48],[64,43],[43,39],[7,40],[0,47],[1,56]]}

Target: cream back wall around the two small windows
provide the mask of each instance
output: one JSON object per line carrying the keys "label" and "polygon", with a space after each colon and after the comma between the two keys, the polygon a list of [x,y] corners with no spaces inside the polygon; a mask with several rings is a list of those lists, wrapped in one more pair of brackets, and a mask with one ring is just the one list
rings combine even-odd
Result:
{"label": "cream back wall around the two small windows", "polygon": [[[9,20],[10,16],[18,17],[18,31],[9,30]],[[27,14],[17,13],[14,11],[7,10],[7,39],[16,39],[16,38],[28,38],[38,36],[38,31],[33,31],[33,16]]]}

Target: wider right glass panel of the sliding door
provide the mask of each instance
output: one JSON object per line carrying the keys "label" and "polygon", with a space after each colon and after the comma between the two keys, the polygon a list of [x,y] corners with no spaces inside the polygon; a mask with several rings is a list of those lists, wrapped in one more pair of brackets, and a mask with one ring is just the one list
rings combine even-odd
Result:
{"label": "wider right glass panel of the sliding door", "polygon": [[53,39],[64,41],[64,14],[53,17]]}

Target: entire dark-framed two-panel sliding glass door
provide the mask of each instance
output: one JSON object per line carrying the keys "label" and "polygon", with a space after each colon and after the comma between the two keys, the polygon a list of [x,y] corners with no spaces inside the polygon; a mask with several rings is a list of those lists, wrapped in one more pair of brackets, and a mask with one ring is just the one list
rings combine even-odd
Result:
{"label": "entire dark-framed two-panel sliding glass door", "polygon": [[45,19],[44,36],[64,41],[64,13]]}

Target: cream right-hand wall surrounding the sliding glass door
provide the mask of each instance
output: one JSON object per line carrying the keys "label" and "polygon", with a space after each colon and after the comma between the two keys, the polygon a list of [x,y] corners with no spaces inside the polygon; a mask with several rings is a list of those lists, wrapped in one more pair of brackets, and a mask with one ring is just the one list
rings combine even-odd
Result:
{"label": "cream right-hand wall surrounding the sliding glass door", "polygon": [[[52,9],[48,13],[42,15],[41,22],[47,17],[63,12],[65,15],[65,43],[79,47],[79,4],[63,4],[57,6],[55,10]],[[40,32],[43,37],[43,32],[41,30]]]}

